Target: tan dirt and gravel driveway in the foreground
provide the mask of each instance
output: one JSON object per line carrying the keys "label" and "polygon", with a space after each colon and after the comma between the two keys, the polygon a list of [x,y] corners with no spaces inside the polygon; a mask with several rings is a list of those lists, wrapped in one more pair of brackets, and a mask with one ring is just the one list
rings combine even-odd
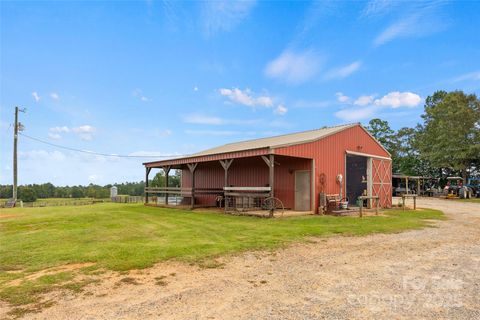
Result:
{"label": "tan dirt and gravel driveway in the foreground", "polygon": [[[38,319],[480,319],[480,204],[421,199],[450,218],[391,235],[313,239],[222,268],[159,264],[56,293]],[[155,279],[156,278],[156,279]]]}

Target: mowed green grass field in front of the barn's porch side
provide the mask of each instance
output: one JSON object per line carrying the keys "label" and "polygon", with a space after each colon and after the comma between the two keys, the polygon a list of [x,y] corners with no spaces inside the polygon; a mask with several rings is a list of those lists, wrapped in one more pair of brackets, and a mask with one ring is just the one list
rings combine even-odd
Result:
{"label": "mowed green grass field in front of the barn's porch side", "polygon": [[[444,219],[440,211],[426,209],[275,219],[117,203],[0,210],[0,299],[13,305],[38,302],[55,288],[80,290],[88,275],[102,270],[140,269],[169,259],[201,265],[219,255],[274,249],[308,236],[391,233]],[[32,276],[78,263],[91,265]]]}

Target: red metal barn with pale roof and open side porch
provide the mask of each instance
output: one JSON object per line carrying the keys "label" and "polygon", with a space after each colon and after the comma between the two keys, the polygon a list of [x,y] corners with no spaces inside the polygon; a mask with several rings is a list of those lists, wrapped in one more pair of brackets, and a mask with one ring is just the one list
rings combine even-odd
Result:
{"label": "red metal barn with pale roof and open side porch", "polygon": [[[379,196],[381,207],[392,205],[390,154],[360,124],[235,142],[144,165],[147,181],[152,168],[167,177],[170,169],[181,170],[181,192],[192,206],[214,206],[224,187],[271,186],[272,196],[297,211],[317,212],[320,192],[342,194],[351,204],[362,194]],[[147,195],[159,192],[146,186]]]}

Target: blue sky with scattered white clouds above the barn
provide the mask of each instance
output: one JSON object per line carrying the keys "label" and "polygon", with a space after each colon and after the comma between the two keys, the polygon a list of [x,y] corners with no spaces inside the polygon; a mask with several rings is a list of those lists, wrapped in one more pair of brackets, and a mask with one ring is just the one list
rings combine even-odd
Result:
{"label": "blue sky with scattered white clouds above the barn", "polygon": [[[160,156],[347,122],[415,126],[480,93],[480,2],[1,2],[0,183],[25,134]],[[20,137],[19,182],[143,179],[145,159]]]}

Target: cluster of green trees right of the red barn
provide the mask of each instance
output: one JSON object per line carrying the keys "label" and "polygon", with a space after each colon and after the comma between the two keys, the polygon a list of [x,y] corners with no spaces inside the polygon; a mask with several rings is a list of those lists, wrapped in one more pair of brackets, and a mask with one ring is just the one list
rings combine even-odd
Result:
{"label": "cluster of green trees right of the red barn", "polygon": [[463,91],[437,91],[425,99],[422,123],[392,130],[372,119],[370,133],[390,152],[394,173],[432,178],[479,175],[480,100]]}

